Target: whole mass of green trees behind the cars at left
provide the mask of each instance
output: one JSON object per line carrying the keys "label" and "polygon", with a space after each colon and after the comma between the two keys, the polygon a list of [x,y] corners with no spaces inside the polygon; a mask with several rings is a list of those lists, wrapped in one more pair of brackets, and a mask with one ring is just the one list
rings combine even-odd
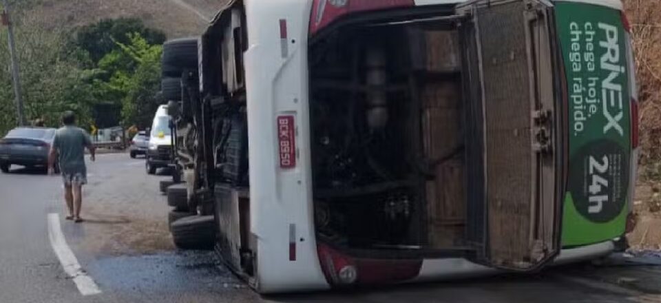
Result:
{"label": "whole mass of green trees behind the cars at left", "polygon": [[[99,116],[116,125],[149,124],[159,102],[164,33],[145,27],[139,19],[104,19],[74,30],[46,30],[21,8],[14,9],[13,19],[26,120],[43,118],[45,125],[56,127],[60,114],[72,110],[88,130]],[[0,135],[16,125],[7,39],[2,28]],[[105,108],[118,110],[105,113]]]}

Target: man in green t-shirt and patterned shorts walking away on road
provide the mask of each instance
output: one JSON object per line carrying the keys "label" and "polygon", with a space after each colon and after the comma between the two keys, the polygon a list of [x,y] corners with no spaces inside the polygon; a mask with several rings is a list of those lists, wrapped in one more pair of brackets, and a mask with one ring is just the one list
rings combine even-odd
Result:
{"label": "man in green t-shirt and patterned shorts walking away on road", "polygon": [[67,202],[69,216],[67,220],[76,223],[83,222],[81,206],[83,204],[82,189],[87,183],[87,167],[85,167],[85,147],[90,150],[90,160],[94,161],[95,148],[90,136],[76,127],[76,116],[73,112],[62,115],[63,127],[57,130],[48,156],[48,173],[54,174],[55,157],[59,159],[60,171],[64,181],[64,198]]}

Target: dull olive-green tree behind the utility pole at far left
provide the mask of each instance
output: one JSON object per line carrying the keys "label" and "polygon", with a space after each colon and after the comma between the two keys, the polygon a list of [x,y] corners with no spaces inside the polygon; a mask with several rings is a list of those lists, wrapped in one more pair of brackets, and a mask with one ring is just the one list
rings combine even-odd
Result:
{"label": "dull olive-green tree behind the utility pole at far left", "polygon": [[[28,121],[43,117],[47,126],[56,127],[61,113],[72,110],[81,123],[89,122],[90,105],[94,103],[91,85],[79,62],[68,55],[65,33],[24,23],[17,26],[15,34]],[[16,126],[6,32],[0,34],[0,62],[0,134],[3,134]]]}

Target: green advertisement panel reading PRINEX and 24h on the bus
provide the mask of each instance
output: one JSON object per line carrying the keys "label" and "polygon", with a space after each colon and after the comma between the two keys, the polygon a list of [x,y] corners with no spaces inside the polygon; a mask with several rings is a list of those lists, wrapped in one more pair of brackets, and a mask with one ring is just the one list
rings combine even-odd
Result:
{"label": "green advertisement panel reading PRINEX and 24h on the bus", "polygon": [[558,1],[556,26],[569,95],[563,247],[624,233],[631,167],[627,36],[620,11]]}

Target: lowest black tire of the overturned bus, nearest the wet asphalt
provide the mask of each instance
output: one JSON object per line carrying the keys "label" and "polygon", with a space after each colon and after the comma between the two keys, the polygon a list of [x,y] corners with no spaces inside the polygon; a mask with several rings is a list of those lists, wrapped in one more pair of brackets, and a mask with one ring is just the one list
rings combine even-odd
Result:
{"label": "lowest black tire of the overturned bus, nearest the wet asphalt", "polygon": [[213,216],[189,216],[170,225],[172,240],[180,249],[213,249],[216,221]]}

